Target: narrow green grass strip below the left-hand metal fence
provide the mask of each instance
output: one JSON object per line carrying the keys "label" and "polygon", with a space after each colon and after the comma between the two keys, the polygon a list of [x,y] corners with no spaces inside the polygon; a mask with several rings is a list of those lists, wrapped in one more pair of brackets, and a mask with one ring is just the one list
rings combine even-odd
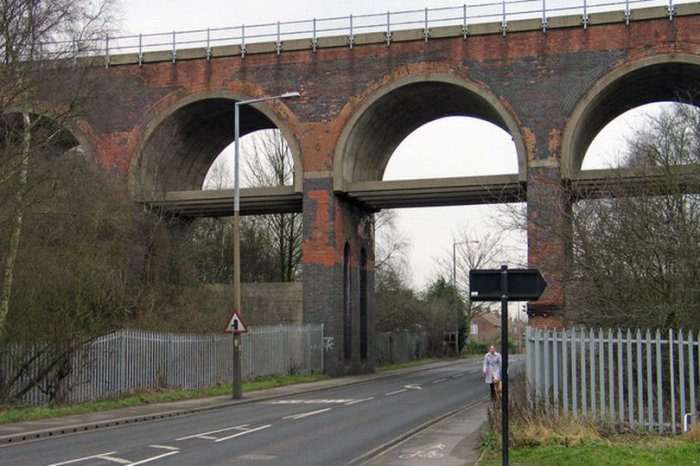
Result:
{"label": "narrow green grass strip below the left-hand metal fence", "polygon": [[[327,378],[327,376],[323,374],[261,377],[250,382],[245,382],[243,384],[243,392],[266,390],[275,387],[282,387],[285,385],[316,382],[325,378]],[[71,414],[91,413],[95,411],[106,411],[109,409],[127,408],[131,406],[167,403],[170,401],[191,400],[195,398],[206,398],[212,396],[223,396],[230,395],[231,392],[231,385],[217,385],[215,387],[197,390],[163,390],[142,392],[114,400],[96,401],[92,403],[81,403],[76,405],[57,405],[39,407],[0,406],[0,424],[68,416]]]}

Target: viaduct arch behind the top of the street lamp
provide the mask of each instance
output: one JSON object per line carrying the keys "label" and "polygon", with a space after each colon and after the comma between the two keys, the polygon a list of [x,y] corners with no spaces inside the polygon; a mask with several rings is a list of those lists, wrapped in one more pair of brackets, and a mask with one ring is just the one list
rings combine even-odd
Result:
{"label": "viaduct arch behind the top of the street lamp", "polygon": [[[149,121],[141,137],[129,172],[132,191],[201,189],[211,164],[234,140],[234,102],[257,97],[221,90],[190,94],[170,105]],[[301,191],[303,168],[291,112],[274,101],[240,111],[241,136],[262,129],[282,132],[294,161],[294,187]]]}

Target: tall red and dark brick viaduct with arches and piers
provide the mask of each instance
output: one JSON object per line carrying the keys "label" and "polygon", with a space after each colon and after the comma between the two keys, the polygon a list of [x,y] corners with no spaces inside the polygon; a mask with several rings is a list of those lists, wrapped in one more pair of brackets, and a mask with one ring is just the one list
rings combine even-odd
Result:
{"label": "tall red and dark brick viaduct with arches and piers", "polygon": [[500,24],[483,24],[468,37],[435,29],[429,41],[403,31],[390,45],[383,34],[365,34],[353,47],[344,37],[316,50],[308,40],[288,42],[279,54],[274,44],[250,45],[245,57],[236,46],[215,49],[210,60],[201,50],[178,51],[175,63],[169,53],[146,54],[140,64],[115,56],[91,71],[98,92],[71,132],[137,197],[192,192],[232,142],[234,101],[299,91],[298,99],[243,107],[241,133],[278,127],[287,138],[295,184],[277,194],[287,210],[303,211],[304,320],[326,324],[331,373],[369,370],[372,212],[391,204],[353,192],[376,187],[397,145],[432,120],[474,116],[503,128],[519,172],[463,180],[445,203],[496,200],[471,198],[469,187],[515,187],[510,200],[527,201],[529,264],[549,282],[530,323],[561,325],[570,244],[556,231],[569,228],[568,187],[582,179],[588,145],[630,108],[700,91],[700,4],[676,8],[672,20],[665,8],[639,10],[629,25],[616,12],[591,17],[587,28],[580,17],[552,19],[546,32],[523,20],[506,35]]}

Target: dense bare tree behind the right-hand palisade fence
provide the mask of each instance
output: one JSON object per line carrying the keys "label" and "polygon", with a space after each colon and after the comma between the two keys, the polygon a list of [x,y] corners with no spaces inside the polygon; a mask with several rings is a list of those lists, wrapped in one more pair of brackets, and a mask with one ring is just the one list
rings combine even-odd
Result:
{"label": "dense bare tree behind the right-hand palisade fence", "polygon": [[678,105],[629,141],[624,172],[656,183],[574,209],[568,317],[606,327],[698,330],[700,110]]}

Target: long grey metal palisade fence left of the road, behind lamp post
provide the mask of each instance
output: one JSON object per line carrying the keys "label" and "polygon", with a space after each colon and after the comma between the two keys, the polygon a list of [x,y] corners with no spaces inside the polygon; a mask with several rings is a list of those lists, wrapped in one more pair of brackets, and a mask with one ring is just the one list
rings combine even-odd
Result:
{"label": "long grey metal palisade fence left of the road, behind lamp post", "polygon": [[[251,327],[242,337],[244,380],[323,372],[322,324]],[[0,383],[8,398],[30,405],[212,387],[231,382],[232,352],[230,335],[119,330],[62,351],[42,344],[4,348]]]}

